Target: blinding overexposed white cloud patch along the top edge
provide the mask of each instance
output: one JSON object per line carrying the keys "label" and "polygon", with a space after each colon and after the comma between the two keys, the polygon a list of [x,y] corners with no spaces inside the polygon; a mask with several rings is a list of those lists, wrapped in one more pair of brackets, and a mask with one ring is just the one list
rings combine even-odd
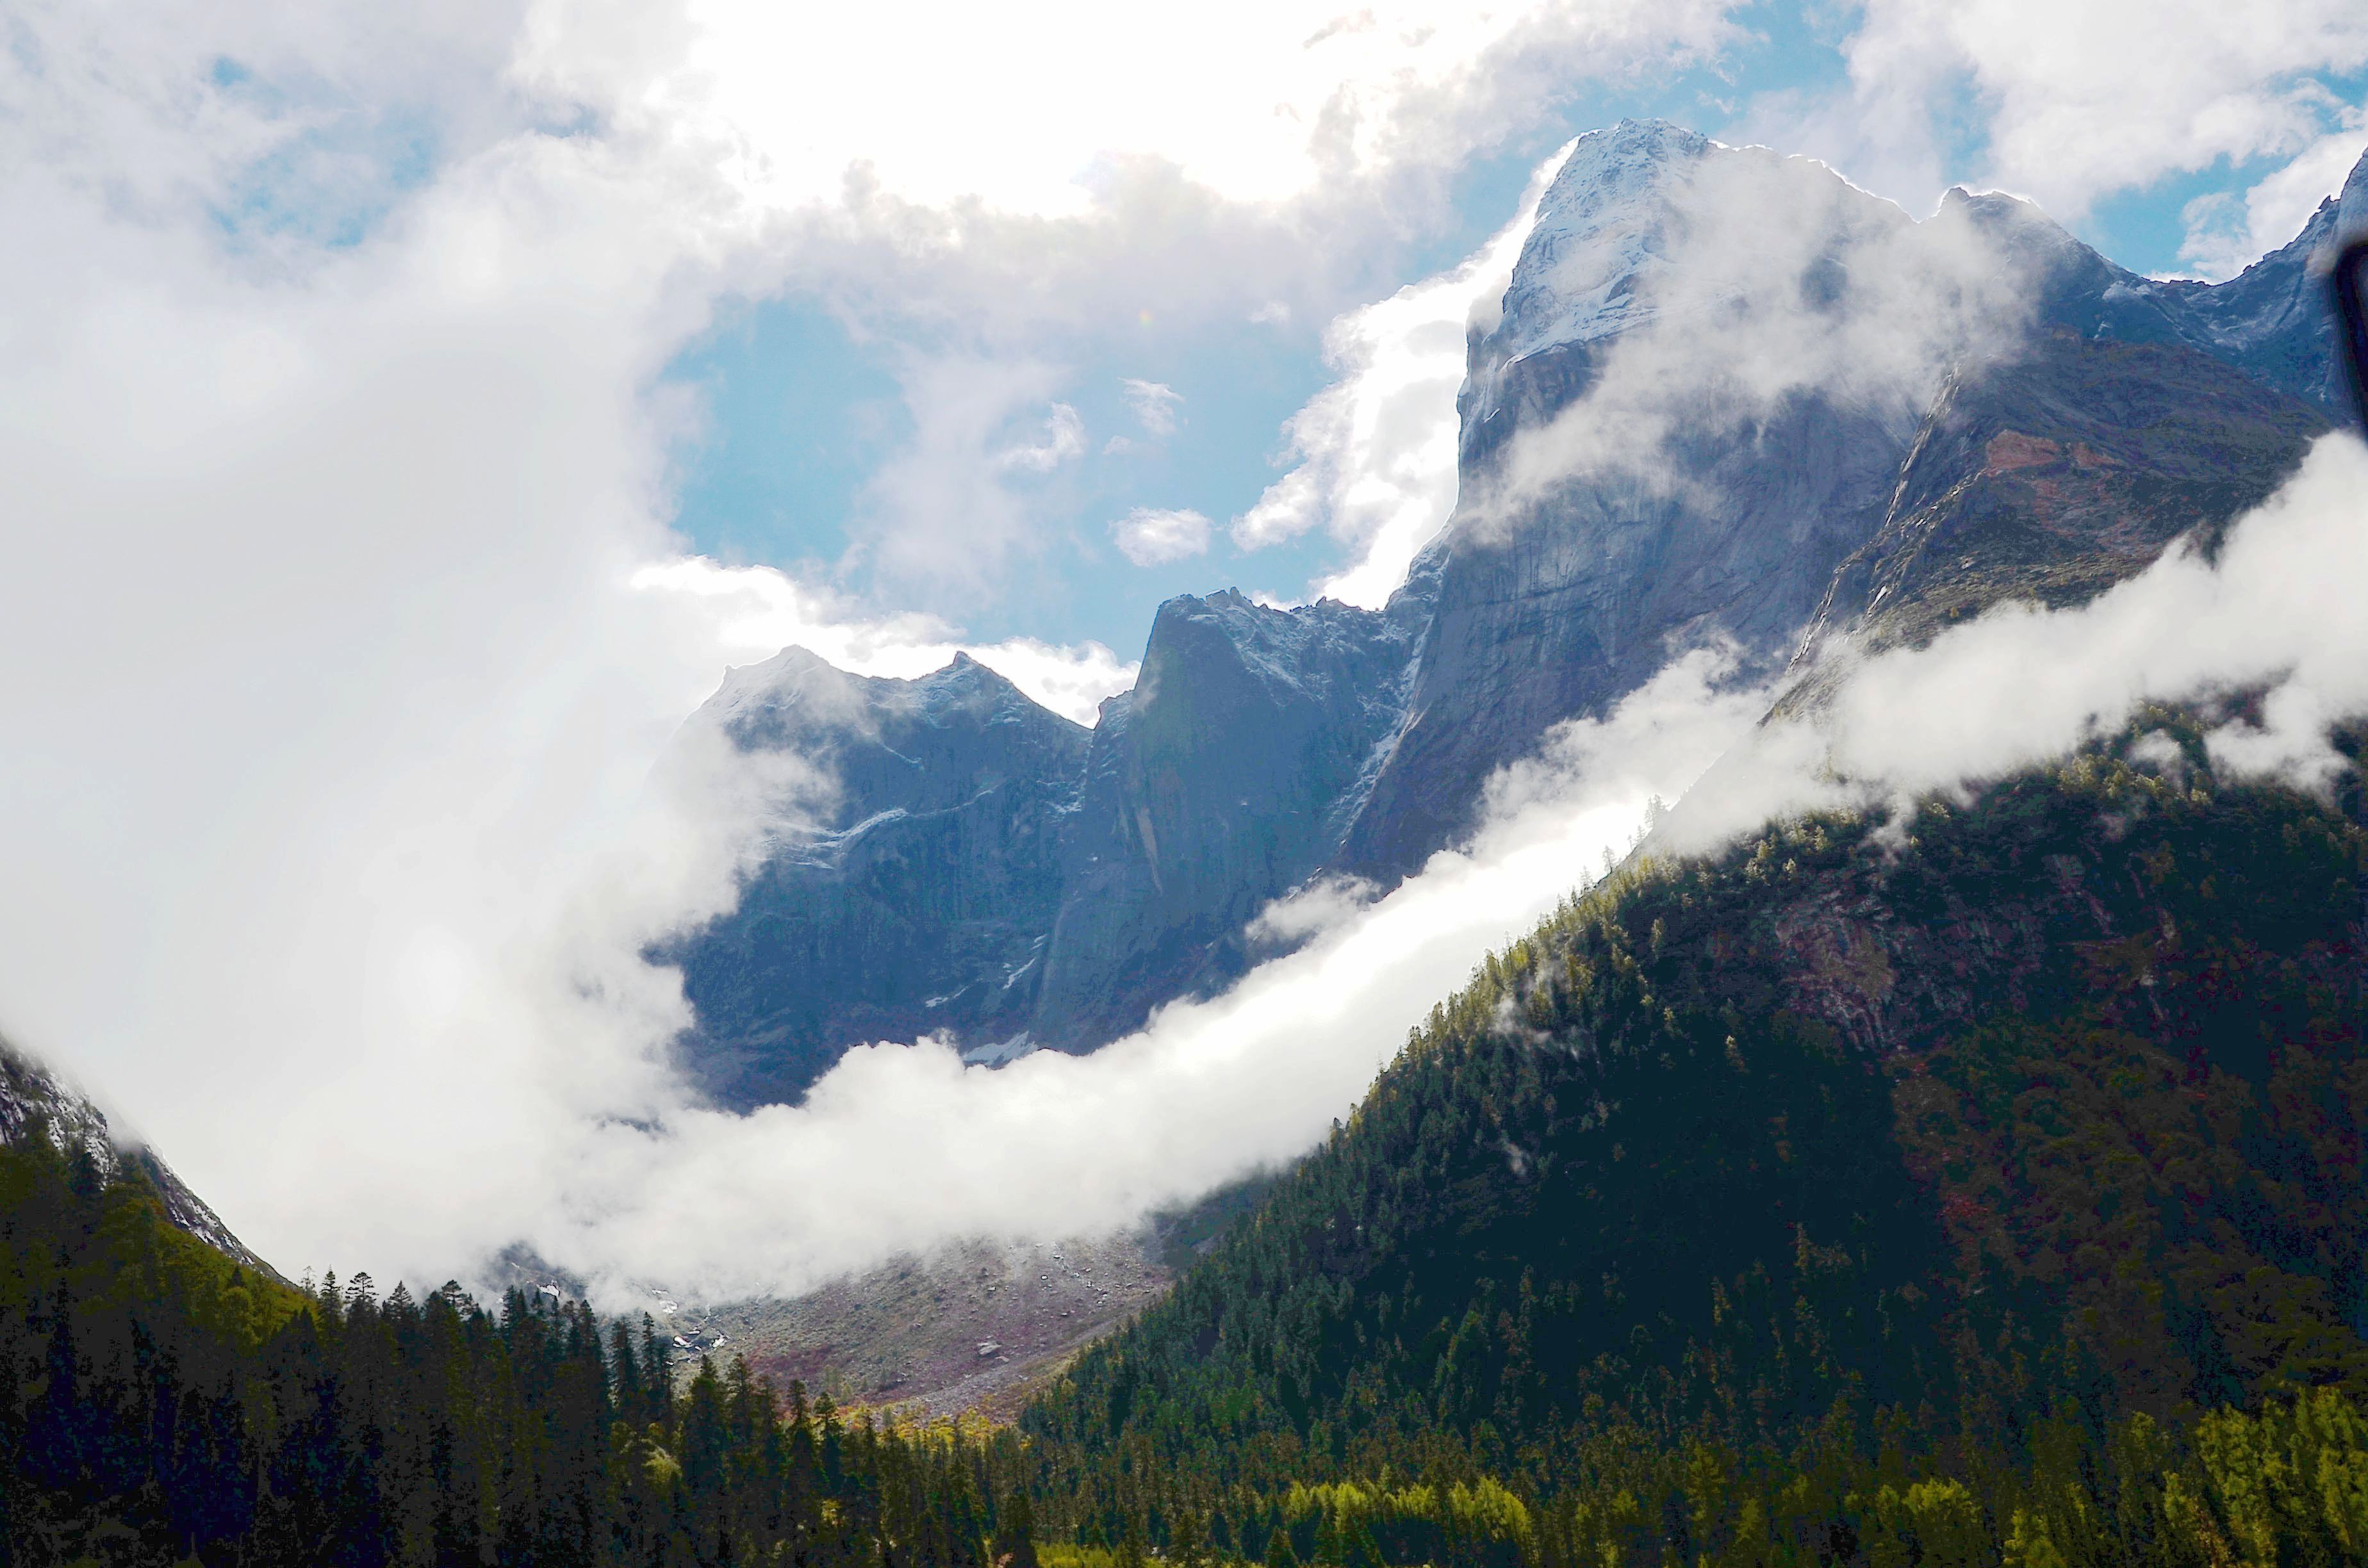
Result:
{"label": "blinding overexposed white cloud patch along the top edge", "polygon": [[521,78],[663,116],[751,197],[836,199],[850,166],[928,206],[1080,213],[1130,159],[1272,204],[1449,168],[1570,81],[1714,47],[1722,7],[1643,0],[1227,0],[1186,17],[1044,0],[978,12],[663,12],[545,0]]}

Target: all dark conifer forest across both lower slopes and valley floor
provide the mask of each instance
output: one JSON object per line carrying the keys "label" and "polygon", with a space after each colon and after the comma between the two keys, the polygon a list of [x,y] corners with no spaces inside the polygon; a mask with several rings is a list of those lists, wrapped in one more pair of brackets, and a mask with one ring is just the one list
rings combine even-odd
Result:
{"label": "all dark conifer forest across both lower slopes and valley floor", "polygon": [[2368,1561],[2356,801],[2183,715],[1492,955],[1016,1424],[0,1156],[9,1563]]}

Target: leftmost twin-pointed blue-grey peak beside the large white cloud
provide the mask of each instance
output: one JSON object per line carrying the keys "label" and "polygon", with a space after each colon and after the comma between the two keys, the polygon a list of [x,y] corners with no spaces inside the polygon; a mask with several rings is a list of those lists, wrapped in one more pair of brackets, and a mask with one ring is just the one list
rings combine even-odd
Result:
{"label": "leftmost twin-pointed blue-grey peak beside the large white cloud", "polygon": [[734,670],[701,722],[834,791],[675,945],[699,1014],[680,1056],[725,1104],[796,1099],[850,1045],[1028,1028],[1061,902],[1087,730],[971,661],[871,680],[805,649]]}

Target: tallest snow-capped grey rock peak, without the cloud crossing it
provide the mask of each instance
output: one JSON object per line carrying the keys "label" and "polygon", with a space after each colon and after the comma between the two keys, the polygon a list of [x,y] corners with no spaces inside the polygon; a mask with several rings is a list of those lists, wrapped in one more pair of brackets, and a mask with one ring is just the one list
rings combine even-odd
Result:
{"label": "tallest snow-capped grey rock peak, without the cloud crossing it", "polygon": [[[1556,722],[1636,689],[1677,647],[1726,635],[1771,666],[1883,521],[1913,419],[1826,396],[1679,433],[1662,452],[1677,483],[1601,474],[1511,519],[1494,509],[1516,438],[1587,398],[1620,339],[1655,320],[1684,201],[1712,159],[1736,166],[1726,180],[1767,182],[1771,204],[1802,182],[1764,149],[1629,121],[1582,137],[1539,204],[1504,315],[1471,343],[1463,500],[1407,725],[1347,836],[1347,869],[1395,881],[1466,836],[1494,770]],[[1819,178],[1814,216],[1835,244],[1909,223],[1838,175]]]}

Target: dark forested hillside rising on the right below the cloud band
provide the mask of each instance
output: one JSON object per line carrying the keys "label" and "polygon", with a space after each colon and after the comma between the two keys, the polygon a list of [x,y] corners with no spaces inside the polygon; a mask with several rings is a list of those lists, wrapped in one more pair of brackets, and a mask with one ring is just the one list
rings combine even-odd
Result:
{"label": "dark forested hillside rising on the right below the cloud band", "polygon": [[[2150,722],[1899,827],[1646,862],[1492,957],[1025,1416],[1047,1523],[1269,1561],[2359,1556],[2363,836]],[[2318,1445],[2271,1556],[2231,1544],[2226,1485],[2266,1485],[2231,1442]],[[1473,1525],[1480,1487],[1516,1523]]]}

